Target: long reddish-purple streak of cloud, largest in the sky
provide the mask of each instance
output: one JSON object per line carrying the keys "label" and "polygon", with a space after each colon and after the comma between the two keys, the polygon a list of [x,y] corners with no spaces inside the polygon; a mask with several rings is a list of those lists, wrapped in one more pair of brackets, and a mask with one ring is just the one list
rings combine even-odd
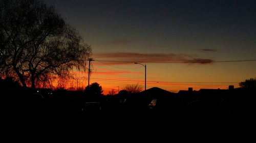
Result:
{"label": "long reddish-purple streak of cloud, largest in the sky", "polygon": [[108,64],[131,64],[138,63],[188,63],[188,64],[210,64],[211,59],[199,58],[196,55],[175,54],[175,53],[134,53],[134,52],[113,52],[94,54],[95,59]]}

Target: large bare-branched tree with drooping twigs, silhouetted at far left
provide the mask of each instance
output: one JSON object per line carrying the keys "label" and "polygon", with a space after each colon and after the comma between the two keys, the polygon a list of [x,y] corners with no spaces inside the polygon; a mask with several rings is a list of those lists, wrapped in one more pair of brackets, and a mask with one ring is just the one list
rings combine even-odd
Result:
{"label": "large bare-branched tree with drooping twigs, silhouetted at far left", "polygon": [[0,74],[23,87],[86,69],[91,48],[78,32],[39,0],[0,2]]}

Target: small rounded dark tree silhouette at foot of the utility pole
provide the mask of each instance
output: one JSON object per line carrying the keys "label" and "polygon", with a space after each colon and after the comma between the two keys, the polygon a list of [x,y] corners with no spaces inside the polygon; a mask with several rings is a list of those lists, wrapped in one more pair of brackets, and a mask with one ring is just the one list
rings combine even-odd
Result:
{"label": "small rounded dark tree silhouette at foot of the utility pole", "polygon": [[84,93],[90,97],[99,97],[103,95],[102,94],[103,90],[102,90],[102,87],[99,85],[99,83],[94,82],[86,87],[86,90],[84,90]]}

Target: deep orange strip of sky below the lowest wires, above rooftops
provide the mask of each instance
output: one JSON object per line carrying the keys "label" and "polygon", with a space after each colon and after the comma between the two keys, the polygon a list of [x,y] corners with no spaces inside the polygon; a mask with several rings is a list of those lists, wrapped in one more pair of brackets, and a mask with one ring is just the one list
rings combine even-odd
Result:
{"label": "deep orange strip of sky below the lowest wires, above rooftops", "polygon": [[[113,80],[113,81],[108,81],[108,80],[102,80],[102,79],[97,79],[97,78],[92,78],[90,79],[90,83],[93,82],[97,82],[101,85],[102,90],[103,90],[103,94],[107,95],[109,94],[109,92],[111,90],[114,89],[114,91],[116,91],[116,93],[118,93],[118,90],[121,91],[123,90],[123,88],[125,87],[125,85],[127,84],[136,84],[139,83],[144,90],[144,82],[139,81],[139,82],[131,82],[129,81],[129,79],[127,78],[122,78],[120,79],[121,81],[117,80]],[[126,81],[122,81],[122,80],[127,80]],[[130,79],[132,80],[132,79]],[[74,90],[76,91],[77,89],[79,90],[84,90],[85,87],[88,85],[87,83],[87,79],[68,79],[65,83],[63,84],[64,87],[67,90]],[[155,83],[153,83],[155,82]],[[57,88],[58,85],[58,81],[54,81],[53,82],[53,87]],[[78,85],[78,87],[77,87]],[[239,88],[238,83],[237,84],[223,84],[223,85],[212,85],[212,84],[189,84],[189,83],[177,83],[177,82],[156,82],[156,81],[148,81],[147,82],[147,89],[153,88],[153,87],[158,87],[161,88],[163,90],[169,91],[169,92],[173,92],[173,93],[178,93],[180,90],[188,90],[188,88],[193,88],[193,90],[200,90],[200,89],[228,89],[228,85],[234,85],[234,88]]]}

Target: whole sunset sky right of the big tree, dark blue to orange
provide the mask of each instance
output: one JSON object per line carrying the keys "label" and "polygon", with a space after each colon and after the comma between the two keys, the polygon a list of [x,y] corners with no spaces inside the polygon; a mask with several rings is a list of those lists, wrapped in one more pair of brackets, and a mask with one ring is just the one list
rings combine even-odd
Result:
{"label": "whole sunset sky right of the big tree, dark blue to orange", "polygon": [[256,1],[45,2],[91,45],[90,82],[104,94],[126,84],[144,88],[144,67],[134,62],[146,64],[147,89],[170,92],[227,89],[256,77]]}

